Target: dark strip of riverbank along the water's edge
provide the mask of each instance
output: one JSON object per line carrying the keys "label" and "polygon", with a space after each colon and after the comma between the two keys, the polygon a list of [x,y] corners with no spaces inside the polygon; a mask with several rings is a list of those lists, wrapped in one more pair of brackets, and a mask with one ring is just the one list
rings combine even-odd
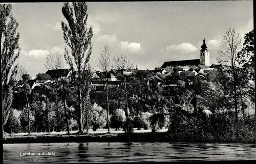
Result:
{"label": "dark strip of riverbank along the water's edge", "polygon": [[[125,133],[89,133],[89,134],[47,134],[47,135],[25,135],[25,136],[5,136],[4,144],[17,143],[70,143],[70,142],[178,142],[170,138],[167,131],[164,132],[134,132],[129,136]],[[189,143],[201,143],[200,141],[179,141]],[[247,143],[254,144],[255,141],[238,140],[212,140],[207,143]]]}

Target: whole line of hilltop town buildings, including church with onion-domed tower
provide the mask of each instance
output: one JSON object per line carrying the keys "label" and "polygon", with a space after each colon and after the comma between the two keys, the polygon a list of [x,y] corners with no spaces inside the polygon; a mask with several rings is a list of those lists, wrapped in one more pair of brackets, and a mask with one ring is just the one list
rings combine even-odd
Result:
{"label": "whole line of hilltop town buildings, including church with onion-domed tower", "polygon": [[[168,61],[164,62],[161,67],[156,67],[153,70],[141,70],[134,69],[111,69],[108,72],[101,71],[91,71],[91,86],[96,91],[102,91],[105,88],[105,81],[108,81],[110,87],[120,87],[125,82],[129,85],[136,84],[137,80],[147,81],[147,85],[161,85],[165,87],[174,87],[177,84],[172,84],[171,76],[174,73],[184,74],[186,76],[200,76],[201,78],[206,78],[207,74],[212,71],[217,71],[222,65],[212,64],[210,65],[210,51],[205,44],[205,39],[203,39],[203,44],[199,51],[199,59],[192,60],[181,60],[181,61]],[[228,67],[225,67],[228,69]],[[76,75],[77,72],[72,72],[71,69],[50,69],[46,74],[51,76],[48,80],[34,79],[28,81],[32,90],[36,92],[41,92],[45,88],[45,84],[49,86],[54,86],[57,81],[64,80],[68,84],[72,83],[71,75]],[[76,75],[77,76],[77,75]],[[188,81],[188,84],[190,82]],[[17,86],[20,88],[23,86]]]}

